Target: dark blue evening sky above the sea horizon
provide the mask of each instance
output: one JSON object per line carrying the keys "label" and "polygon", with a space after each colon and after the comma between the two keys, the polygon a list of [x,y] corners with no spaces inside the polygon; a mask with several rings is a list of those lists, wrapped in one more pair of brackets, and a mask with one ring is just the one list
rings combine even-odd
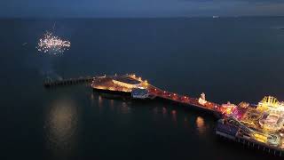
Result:
{"label": "dark blue evening sky above the sea horizon", "polygon": [[1,0],[1,17],[284,15],[284,0]]}

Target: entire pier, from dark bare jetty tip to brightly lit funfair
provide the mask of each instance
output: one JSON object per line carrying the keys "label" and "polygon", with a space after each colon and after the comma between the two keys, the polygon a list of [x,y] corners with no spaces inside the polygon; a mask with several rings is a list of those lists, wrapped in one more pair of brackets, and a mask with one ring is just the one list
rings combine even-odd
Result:
{"label": "entire pier, from dark bare jetty tip to brightly lit funfair", "polygon": [[122,94],[132,99],[170,100],[189,108],[201,108],[221,117],[217,121],[216,134],[229,140],[258,148],[275,156],[284,154],[284,102],[266,96],[257,105],[241,102],[217,104],[200,98],[167,92],[149,84],[135,75],[95,76],[60,81],[47,81],[44,86],[90,83],[96,92]]}

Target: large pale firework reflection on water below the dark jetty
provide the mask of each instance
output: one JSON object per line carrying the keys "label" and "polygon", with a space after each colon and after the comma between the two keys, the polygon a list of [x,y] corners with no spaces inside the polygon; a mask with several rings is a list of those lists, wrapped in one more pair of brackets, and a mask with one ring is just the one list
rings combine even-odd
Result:
{"label": "large pale firework reflection on water below the dark jetty", "polygon": [[73,100],[56,100],[46,117],[47,143],[53,151],[74,145],[78,124],[77,107]]}

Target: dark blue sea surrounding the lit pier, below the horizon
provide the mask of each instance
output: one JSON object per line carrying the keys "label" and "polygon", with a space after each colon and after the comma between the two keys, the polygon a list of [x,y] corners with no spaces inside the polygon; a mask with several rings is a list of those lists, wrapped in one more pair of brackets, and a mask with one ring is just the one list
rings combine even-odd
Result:
{"label": "dark blue sea surrounding the lit pier, below the horizon", "polygon": [[[71,48],[39,54],[37,39],[55,21]],[[136,73],[218,103],[284,100],[280,28],[284,18],[0,20],[1,159],[272,159],[218,140],[217,120],[200,111],[42,83]]]}

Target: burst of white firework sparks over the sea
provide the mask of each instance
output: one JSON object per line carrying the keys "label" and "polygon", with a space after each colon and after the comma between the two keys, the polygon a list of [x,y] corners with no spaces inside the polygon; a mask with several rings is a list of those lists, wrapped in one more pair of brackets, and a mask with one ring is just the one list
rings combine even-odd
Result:
{"label": "burst of white firework sparks over the sea", "polygon": [[51,54],[59,54],[68,50],[71,43],[64,41],[59,36],[53,36],[51,32],[46,32],[42,38],[39,39],[37,50],[39,52],[48,52]]}

